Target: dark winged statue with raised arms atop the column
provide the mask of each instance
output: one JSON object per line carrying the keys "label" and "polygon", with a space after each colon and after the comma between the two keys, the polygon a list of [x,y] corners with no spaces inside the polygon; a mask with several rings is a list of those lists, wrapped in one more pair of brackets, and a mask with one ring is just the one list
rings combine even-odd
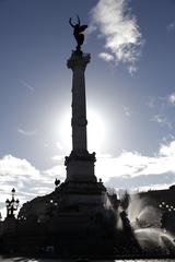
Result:
{"label": "dark winged statue with raised arms atop the column", "polygon": [[80,52],[81,51],[81,46],[83,45],[83,41],[84,41],[84,35],[81,34],[81,33],[88,28],[88,25],[81,25],[79,15],[77,17],[78,17],[78,23],[77,24],[73,25],[71,19],[69,19],[69,24],[73,27],[73,35],[74,35],[74,38],[78,43],[77,51]]}

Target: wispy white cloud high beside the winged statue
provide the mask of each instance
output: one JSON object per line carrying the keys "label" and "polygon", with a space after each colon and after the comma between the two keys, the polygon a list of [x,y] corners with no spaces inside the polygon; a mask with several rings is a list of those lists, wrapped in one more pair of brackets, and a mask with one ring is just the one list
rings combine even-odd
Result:
{"label": "wispy white cloud high beside the winged statue", "polygon": [[127,63],[130,73],[133,73],[143,39],[128,1],[98,0],[91,11],[91,17],[90,27],[93,31],[97,28],[100,38],[105,39],[106,51],[101,52],[100,57],[105,61]]}

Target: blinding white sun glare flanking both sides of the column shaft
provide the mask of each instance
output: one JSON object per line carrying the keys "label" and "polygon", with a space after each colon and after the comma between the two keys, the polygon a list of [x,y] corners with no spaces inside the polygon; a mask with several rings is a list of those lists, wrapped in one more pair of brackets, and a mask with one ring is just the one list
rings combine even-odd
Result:
{"label": "blinding white sun glare flanking both sides of the column shaft", "polygon": [[[63,152],[70,152],[72,146],[71,141],[71,116],[66,112],[59,120],[58,127],[58,147]],[[105,140],[105,123],[101,115],[95,110],[88,111],[88,150],[89,152],[100,153]]]}

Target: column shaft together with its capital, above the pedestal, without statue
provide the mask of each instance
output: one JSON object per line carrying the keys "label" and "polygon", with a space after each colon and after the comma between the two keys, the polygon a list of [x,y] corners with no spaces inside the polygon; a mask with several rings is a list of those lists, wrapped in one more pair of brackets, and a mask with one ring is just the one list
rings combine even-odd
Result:
{"label": "column shaft together with its capital, above the pedestal, without statue", "polygon": [[90,62],[90,55],[77,56],[72,53],[68,60],[68,68],[72,70],[72,150],[86,151],[86,102],[85,102],[85,68]]}

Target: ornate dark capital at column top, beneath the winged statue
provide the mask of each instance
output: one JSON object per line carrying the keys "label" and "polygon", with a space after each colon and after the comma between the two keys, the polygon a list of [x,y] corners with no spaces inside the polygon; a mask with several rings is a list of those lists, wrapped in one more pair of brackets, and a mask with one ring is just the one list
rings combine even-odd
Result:
{"label": "ornate dark capital at column top, beneath the winged statue", "polygon": [[77,53],[75,51],[72,51],[71,57],[67,61],[67,67],[69,69],[72,69],[72,71],[74,71],[75,69],[84,71],[90,60],[90,53]]}

